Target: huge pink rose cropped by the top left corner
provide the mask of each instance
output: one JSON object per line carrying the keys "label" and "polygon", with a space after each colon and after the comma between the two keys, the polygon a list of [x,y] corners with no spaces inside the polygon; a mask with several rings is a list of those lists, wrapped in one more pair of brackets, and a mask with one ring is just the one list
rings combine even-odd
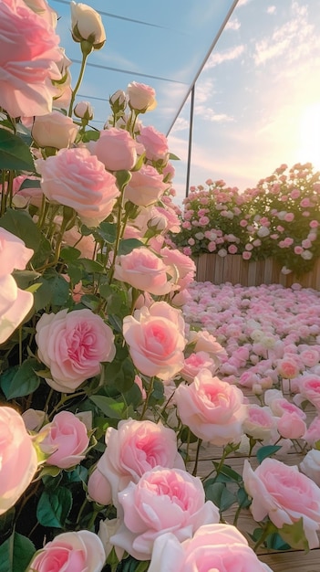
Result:
{"label": "huge pink rose cropped by the top left corner", "polygon": [[61,77],[59,37],[53,27],[23,0],[3,0],[0,36],[0,106],[12,117],[48,113],[57,93],[51,80]]}

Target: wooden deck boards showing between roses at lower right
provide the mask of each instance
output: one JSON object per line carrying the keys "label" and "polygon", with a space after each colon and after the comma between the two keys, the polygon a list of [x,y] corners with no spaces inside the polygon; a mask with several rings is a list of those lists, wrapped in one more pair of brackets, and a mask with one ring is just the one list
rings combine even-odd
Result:
{"label": "wooden deck boards showing between roses at lower right", "polygon": [[[255,397],[250,396],[249,398],[250,401],[255,401]],[[315,411],[312,407],[310,407],[306,413],[309,422],[311,418],[314,417]],[[221,447],[213,447],[209,444],[201,446],[201,455],[200,461],[198,462],[197,475],[201,478],[209,475],[213,468],[212,461],[220,461],[221,455]],[[188,470],[192,471],[194,466],[195,451],[192,451],[190,456],[191,461],[188,463]],[[245,454],[235,452],[227,457],[225,464],[232,467],[234,471],[243,474],[243,461],[247,458],[248,457]],[[284,461],[289,465],[297,465],[303,460],[303,458],[304,455],[294,451],[283,455],[277,454],[276,456],[276,459],[279,461]],[[250,463],[253,469],[258,464],[254,454],[250,459]],[[233,524],[233,518],[237,505],[234,505],[234,507],[235,508],[231,507],[222,513],[222,518],[229,524]],[[243,533],[243,535],[246,536],[249,544],[253,547],[253,541],[251,540],[248,533],[253,532],[253,529],[257,527],[257,524],[253,520],[250,509],[242,510],[238,519],[237,527]],[[314,550],[310,550],[308,553],[305,553],[303,550],[299,551],[294,549],[286,550],[284,552],[274,552],[260,547],[257,554],[263,562],[265,562],[269,567],[272,568],[272,570],[274,570],[274,572],[297,572],[298,570],[299,572],[320,572],[320,548],[316,548]]]}

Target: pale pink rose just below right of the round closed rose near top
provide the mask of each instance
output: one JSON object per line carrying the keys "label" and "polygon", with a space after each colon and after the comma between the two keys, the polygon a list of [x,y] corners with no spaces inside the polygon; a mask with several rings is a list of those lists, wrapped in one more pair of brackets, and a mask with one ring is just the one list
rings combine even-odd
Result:
{"label": "pale pink rose just below right of the round closed rose near top", "polygon": [[125,198],[139,207],[148,207],[156,203],[168,188],[163,177],[150,164],[142,165],[134,171],[125,189]]}

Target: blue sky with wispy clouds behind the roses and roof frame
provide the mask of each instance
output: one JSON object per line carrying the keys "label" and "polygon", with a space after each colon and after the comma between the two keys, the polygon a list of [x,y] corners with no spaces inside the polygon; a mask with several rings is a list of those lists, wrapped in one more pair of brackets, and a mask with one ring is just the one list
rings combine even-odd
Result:
{"label": "blue sky with wispy clouds behind the roses and roof frame", "polygon": [[[63,16],[57,31],[67,56],[79,58],[69,39],[68,3],[49,4]],[[80,93],[99,98],[91,101],[97,126],[108,116],[108,96],[136,80],[155,87],[164,101],[143,120],[165,131],[232,0],[170,0],[167,9],[147,0],[87,4],[156,24],[133,27],[129,19],[103,16],[107,44],[90,61],[129,73],[88,69]],[[238,1],[196,83],[191,185],[223,179],[244,190],[283,163],[311,161],[320,169],[319,7],[319,0]],[[73,64],[74,79],[77,69]],[[168,80],[144,78],[143,72]],[[181,158],[174,163],[179,202],[186,190],[189,118],[187,101],[169,136],[170,151]]]}

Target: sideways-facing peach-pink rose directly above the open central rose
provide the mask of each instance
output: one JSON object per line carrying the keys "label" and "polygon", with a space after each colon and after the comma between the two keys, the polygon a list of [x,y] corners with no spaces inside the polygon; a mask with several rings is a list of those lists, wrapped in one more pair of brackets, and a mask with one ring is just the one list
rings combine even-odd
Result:
{"label": "sideways-facing peach-pink rose directly above the open central rose", "polygon": [[116,259],[114,277],[117,280],[156,296],[168,294],[175,288],[174,284],[168,281],[167,274],[170,274],[170,267],[144,247],[133,249],[129,254]]}

